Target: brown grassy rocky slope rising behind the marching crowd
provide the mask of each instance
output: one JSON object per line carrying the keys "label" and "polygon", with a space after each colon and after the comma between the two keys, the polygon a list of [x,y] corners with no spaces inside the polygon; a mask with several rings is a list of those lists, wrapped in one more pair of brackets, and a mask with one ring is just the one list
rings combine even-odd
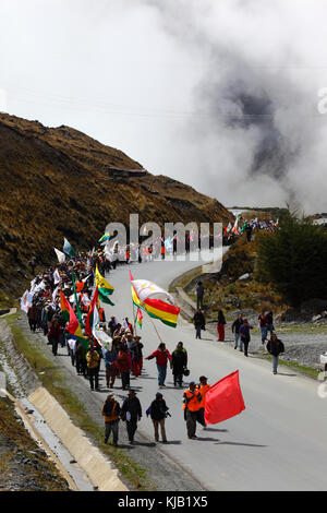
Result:
{"label": "brown grassy rocky slope rising behind the marching crowd", "polygon": [[[28,260],[53,261],[63,237],[90,248],[110,222],[222,222],[218,201],[164,176],[69,127],[0,114],[0,286],[22,285]],[[0,297],[0,300],[3,299]]]}

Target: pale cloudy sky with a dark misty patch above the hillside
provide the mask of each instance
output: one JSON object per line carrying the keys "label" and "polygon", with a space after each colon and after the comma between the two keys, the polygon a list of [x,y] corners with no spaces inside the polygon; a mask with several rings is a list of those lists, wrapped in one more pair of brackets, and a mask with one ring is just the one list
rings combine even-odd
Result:
{"label": "pale cloudy sky with a dark misty patch above the hillside", "polygon": [[327,212],[326,0],[0,0],[0,110],[226,206]]}

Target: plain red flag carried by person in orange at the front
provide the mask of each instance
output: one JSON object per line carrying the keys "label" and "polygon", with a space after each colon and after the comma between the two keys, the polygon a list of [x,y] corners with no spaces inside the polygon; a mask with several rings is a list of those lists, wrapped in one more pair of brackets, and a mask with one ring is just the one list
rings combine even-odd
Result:
{"label": "plain red flag carried by person in orange at the front", "polygon": [[218,423],[239,415],[245,409],[239,371],[218,381],[206,393],[205,422]]}

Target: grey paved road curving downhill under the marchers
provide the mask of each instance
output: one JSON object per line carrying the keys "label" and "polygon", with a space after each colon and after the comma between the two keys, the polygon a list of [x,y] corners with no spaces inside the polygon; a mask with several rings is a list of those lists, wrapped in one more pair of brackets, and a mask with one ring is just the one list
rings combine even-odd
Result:
{"label": "grey paved road curving downhill under the marchers", "polygon": [[[132,319],[130,269],[134,278],[152,279],[168,287],[174,277],[195,266],[194,262],[150,262],[118,269],[107,276],[116,287],[116,307],[106,307],[106,314]],[[170,441],[161,451],[189,472],[207,490],[325,490],[327,464],[327,399],[317,395],[317,382],[280,369],[274,375],[269,362],[218,343],[214,335],[196,341],[194,329],[182,319],[171,329],[160,321],[156,326],[169,350],[183,341],[189,351],[191,375],[186,384],[205,374],[214,384],[228,373],[240,370],[240,382],[246,410],[223,423],[204,431],[197,428],[198,440],[189,440],[181,410],[182,391],[173,387],[168,371],[165,399],[172,418],[167,419]],[[144,355],[159,344],[148,318],[142,330]],[[145,361],[145,373],[132,386],[138,391],[143,409],[156,392],[155,360]],[[118,382],[120,383],[120,381]],[[186,387],[186,386],[185,386]],[[118,397],[122,391],[117,390]],[[153,440],[153,425],[144,418],[140,431]],[[137,437],[137,434],[136,434]]]}

